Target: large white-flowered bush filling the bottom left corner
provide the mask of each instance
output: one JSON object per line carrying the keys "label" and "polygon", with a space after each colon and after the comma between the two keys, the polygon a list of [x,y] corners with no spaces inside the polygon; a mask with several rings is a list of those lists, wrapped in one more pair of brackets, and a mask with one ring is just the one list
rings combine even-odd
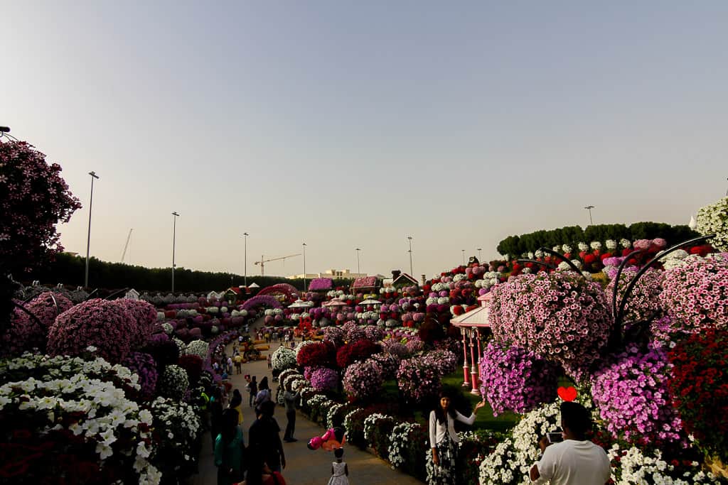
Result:
{"label": "large white-flowered bush filling the bottom left corner", "polygon": [[125,397],[139,389],[128,369],[25,354],[0,361],[0,384],[0,429],[15,437],[1,452],[8,483],[159,484],[152,415]]}

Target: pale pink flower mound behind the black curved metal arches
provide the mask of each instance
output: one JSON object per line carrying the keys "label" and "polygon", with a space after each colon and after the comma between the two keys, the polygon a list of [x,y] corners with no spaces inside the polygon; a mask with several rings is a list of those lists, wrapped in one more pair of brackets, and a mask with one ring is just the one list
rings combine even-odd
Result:
{"label": "pale pink flower mound behind the black curved metal arches", "polygon": [[[636,274],[637,270],[635,269],[625,269],[622,271],[620,284],[617,286],[617,308],[620,308],[625,290]],[[649,320],[655,316],[659,316],[662,312],[662,308],[660,307],[660,292],[662,292],[663,276],[663,271],[650,268],[637,280],[625,307],[625,323]],[[606,301],[610,305],[612,304],[615,282],[615,279],[609,281],[609,286],[606,287],[604,292],[606,294]]]}

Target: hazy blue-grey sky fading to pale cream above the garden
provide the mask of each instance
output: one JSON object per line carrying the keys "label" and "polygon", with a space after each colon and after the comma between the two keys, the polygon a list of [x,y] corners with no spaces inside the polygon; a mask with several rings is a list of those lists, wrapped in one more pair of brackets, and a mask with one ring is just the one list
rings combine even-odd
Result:
{"label": "hazy blue-grey sky fading to pale cream above the garden", "polygon": [[[0,125],[67,251],[414,274],[513,234],[686,224],[728,188],[725,1],[8,1]],[[301,256],[266,274],[303,272]]]}

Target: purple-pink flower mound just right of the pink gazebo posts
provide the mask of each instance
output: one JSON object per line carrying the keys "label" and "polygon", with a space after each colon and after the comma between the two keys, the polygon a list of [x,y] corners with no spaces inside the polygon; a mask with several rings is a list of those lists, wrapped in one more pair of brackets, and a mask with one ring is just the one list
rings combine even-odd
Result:
{"label": "purple-pink flower mound just right of the pink gazebo posts", "polygon": [[558,366],[520,347],[488,343],[480,359],[480,394],[497,416],[521,414],[556,398]]}

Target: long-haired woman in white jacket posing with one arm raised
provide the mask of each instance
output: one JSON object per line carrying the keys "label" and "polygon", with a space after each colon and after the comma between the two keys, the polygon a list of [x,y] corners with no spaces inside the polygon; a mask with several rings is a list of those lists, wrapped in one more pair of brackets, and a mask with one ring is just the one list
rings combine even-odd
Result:
{"label": "long-haired woman in white jacket posing with one arm raised", "polygon": [[[430,448],[432,449],[432,473],[427,473],[430,485],[452,485],[455,483],[455,461],[457,457],[458,438],[454,422],[458,420],[466,425],[475,422],[478,409],[485,406],[484,401],[475,404],[470,417],[464,417],[450,407],[450,396],[440,393],[439,406],[430,412]],[[428,464],[429,465],[429,464]]]}

